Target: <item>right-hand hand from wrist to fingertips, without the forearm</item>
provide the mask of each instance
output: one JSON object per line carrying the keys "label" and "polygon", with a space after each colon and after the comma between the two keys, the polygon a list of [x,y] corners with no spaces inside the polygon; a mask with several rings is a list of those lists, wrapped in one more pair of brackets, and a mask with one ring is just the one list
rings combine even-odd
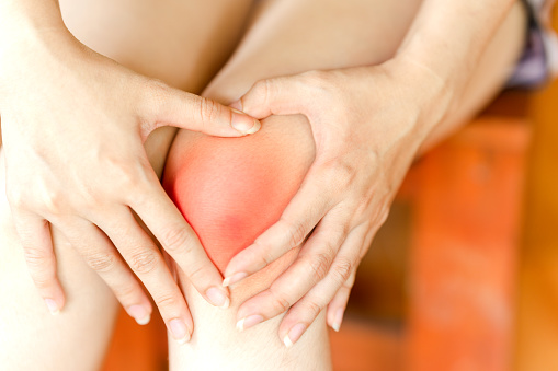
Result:
{"label": "right-hand hand from wrist to fingertips, without the forearm", "polygon": [[339,329],[358,263],[448,106],[444,88],[432,72],[398,59],[259,81],[231,105],[257,118],[303,114],[316,141],[300,189],[281,219],[230,260],[224,285],[304,246],[270,289],[239,308],[237,320],[288,310],[278,333],[291,346],[329,304],[327,321]]}

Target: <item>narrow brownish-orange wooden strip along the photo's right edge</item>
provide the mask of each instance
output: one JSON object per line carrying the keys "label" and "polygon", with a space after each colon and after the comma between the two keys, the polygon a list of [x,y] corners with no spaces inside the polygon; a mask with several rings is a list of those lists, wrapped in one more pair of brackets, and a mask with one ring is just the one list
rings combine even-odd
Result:
{"label": "narrow brownish-orange wooden strip along the photo's right edge", "polygon": [[[558,20],[558,12],[555,12]],[[558,25],[558,24],[557,24]],[[558,370],[558,83],[534,94],[516,370]]]}

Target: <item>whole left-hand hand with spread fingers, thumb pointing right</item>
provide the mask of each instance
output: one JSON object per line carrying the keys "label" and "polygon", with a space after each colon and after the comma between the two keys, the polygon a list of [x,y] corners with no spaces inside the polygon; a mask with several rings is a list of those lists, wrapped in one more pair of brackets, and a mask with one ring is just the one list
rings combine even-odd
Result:
{"label": "whole left-hand hand with spread fingers, thumb pointing right", "polygon": [[50,224],[138,323],[149,321],[151,305],[134,274],[169,329],[186,339],[193,323],[185,300],[136,215],[206,300],[227,306],[228,290],[162,189],[143,143],[161,126],[238,137],[260,124],[136,74],[66,31],[41,37],[0,53],[7,194],[35,285],[49,310],[60,311]]}

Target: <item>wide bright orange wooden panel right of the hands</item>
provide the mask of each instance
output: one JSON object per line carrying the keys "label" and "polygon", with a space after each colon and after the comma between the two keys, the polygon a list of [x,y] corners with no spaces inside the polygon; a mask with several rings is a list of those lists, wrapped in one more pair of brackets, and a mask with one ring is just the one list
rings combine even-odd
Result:
{"label": "wide bright orange wooden panel right of the hands", "polygon": [[510,369],[528,137],[485,116],[413,169],[406,370]]}

